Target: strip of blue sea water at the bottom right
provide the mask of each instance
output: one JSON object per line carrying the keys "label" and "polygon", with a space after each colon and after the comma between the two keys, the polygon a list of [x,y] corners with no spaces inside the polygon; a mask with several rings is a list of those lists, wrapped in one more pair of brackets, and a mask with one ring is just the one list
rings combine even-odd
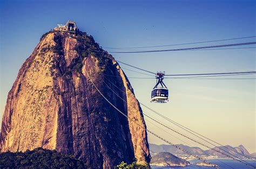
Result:
{"label": "strip of blue sea water at the bottom right", "polygon": [[[227,164],[223,164],[221,163],[220,161],[222,161],[223,163]],[[212,159],[212,160],[207,160],[208,162],[212,163],[212,164],[216,164],[218,165],[221,169],[252,169],[252,167],[249,167],[249,166],[246,166],[245,164],[242,164],[240,163],[239,161],[235,161],[235,160],[230,160],[230,159]],[[248,163],[254,165],[256,167],[256,161],[250,161],[250,160],[246,160]],[[211,168],[214,168],[214,167],[205,167],[205,166],[198,166],[196,165],[197,163],[200,163],[199,160],[189,160],[190,164],[189,166],[187,167],[155,167],[155,166],[151,166],[151,168],[154,168],[154,169],[171,169],[171,168],[174,168],[174,169],[211,169]]]}

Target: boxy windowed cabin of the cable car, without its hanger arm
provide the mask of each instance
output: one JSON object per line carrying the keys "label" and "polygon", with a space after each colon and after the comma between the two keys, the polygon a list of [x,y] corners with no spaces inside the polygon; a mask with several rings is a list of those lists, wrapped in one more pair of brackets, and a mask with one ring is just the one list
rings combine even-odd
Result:
{"label": "boxy windowed cabin of the cable car, without its hanger arm", "polygon": [[169,90],[164,87],[156,87],[151,91],[151,102],[166,103],[168,99]]}

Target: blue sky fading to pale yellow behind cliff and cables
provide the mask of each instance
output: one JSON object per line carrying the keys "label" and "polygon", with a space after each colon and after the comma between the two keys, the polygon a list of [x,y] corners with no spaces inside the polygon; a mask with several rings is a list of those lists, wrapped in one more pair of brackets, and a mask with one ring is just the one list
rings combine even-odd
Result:
{"label": "blue sky fading to pale yellow behind cliff and cables", "polygon": [[[78,28],[92,35],[103,48],[200,42],[255,36],[255,4],[255,1],[1,1],[1,117],[7,94],[22,63],[31,55],[43,33],[57,24],[76,21]],[[255,71],[255,49],[113,53],[113,57],[168,74]],[[129,77],[145,77],[130,71],[125,73]],[[170,89],[170,102],[160,105],[149,102],[155,80],[130,79],[130,82],[140,102],[165,116],[222,144],[243,144],[251,153],[256,152],[255,80],[165,79]],[[165,136],[149,122],[147,127]],[[165,137],[173,143],[181,143],[173,136]],[[163,143],[150,134],[149,141]]]}

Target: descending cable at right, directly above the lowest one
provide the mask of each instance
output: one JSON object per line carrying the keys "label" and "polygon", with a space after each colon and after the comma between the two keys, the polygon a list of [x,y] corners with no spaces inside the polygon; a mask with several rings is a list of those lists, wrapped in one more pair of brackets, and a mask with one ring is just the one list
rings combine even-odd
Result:
{"label": "descending cable at right, directly above the lowest one", "polygon": [[[107,80],[107,79],[106,79],[106,80]],[[102,80],[102,81],[103,81],[103,83],[105,83],[104,80]],[[107,81],[109,81],[109,80],[107,80]],[[110,82],[110,81],[109,81],[109,82]],[[105,85],[106,85],[107,87],[109,87],[106,83],[105,83]],[[116,86],[116,87],[117,87],[117,86]],[[120,99],[122,99],[125,103],[127,103],[127,102],[126,102],[123,98],[121,98],[116,92],[114,92],[114,91],[111,89],[111,87],[109,87],[109,89],[110,89],[114,94],[116,94],[116,96],[118,96],[118,97],[119,97]],[[140,103],[140,104],[141,104],[141,103]],[[183,136],[183,137],[185,137],[185,138],[187,138],[187,139],[190,139],[190,140],[192,140],[192,141],[194,141],[194,142],[196,142],[196,143],[198,143],[198,144],[200,144],[200,145],[202,145],[202,146],[205,146],[205,147],[207,147],[207,148],[210,148],[211,150],[213,150],[213,151],[215,151],[215,152],[218,152],[218,153],[220,153],[220,154],[223,154],[224,156],[227,156],[227,157],[230,157],[230,158],[232,158],[232,159],[234,159],[234,160],[237,160],[237,161],[239,161],[240,163],[243,163],[243,164],[245,164],[245,165],[254,167],[253,165],[251,165],[251,164],[248,163],[247,161],[242,160],[241,158],[239,158],[239,157],[237,157],[237,156],[234,156],[234,155],[231,154],[230,152],[227,152],[227,151],[225,151],[225,150],[219,148],[220,150],[223,150],[223,151],[225,151],[226,153],[231,154],[231,156],[230,156],[230,155],[227,155],[227,154],[225,154],[225,153],[223,153],[223,152],[220,152],[220,151],[218,151],[218,150],[215,150],[214,148],[211,148],[210,146],[207,146],[207,145],[205,145],[205,144],[203,144],[203,143],[200,143],[199,141],[197,141],[197,140],[195,140],[195,139],[192,139],[192,138],[186,136],[185,134],[180,133],[180,132],[178,132],[178,131],[172,129],[172,128],[169,127],[169,126],[167,126],[167,125],[165,125],[165,124],[163,124],[163,123],[160,123],[158,120],[153,119],[152,117],[150,117],[149,115],[147,115],[145,112],[143,112],[143,114],[144,114],[146,117],[150,118],[151,120],[155,121],[156,123],[158,123],[158,124],[160,124],[160,125],[166,127],[167,129],[169,129],[169,130],[171,130],[171,131],[173,131],[173,132],[176,132],[176,133],[180,134],[181,136]],[[213,145],[213,146],[215,146],[215,145]],[[232,157],[232,156],[234,156],[235,158]]]}

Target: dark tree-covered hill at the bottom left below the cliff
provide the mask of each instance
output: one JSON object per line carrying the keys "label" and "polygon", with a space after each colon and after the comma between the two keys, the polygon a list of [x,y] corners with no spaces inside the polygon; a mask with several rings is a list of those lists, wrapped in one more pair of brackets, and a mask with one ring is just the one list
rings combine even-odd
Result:
{"label": "dark tree-covered hill at the bottom left below the cliff", "polygon": [[90,168],[83,161],[53,150],[36,148],[0,153],[0,168]]}

